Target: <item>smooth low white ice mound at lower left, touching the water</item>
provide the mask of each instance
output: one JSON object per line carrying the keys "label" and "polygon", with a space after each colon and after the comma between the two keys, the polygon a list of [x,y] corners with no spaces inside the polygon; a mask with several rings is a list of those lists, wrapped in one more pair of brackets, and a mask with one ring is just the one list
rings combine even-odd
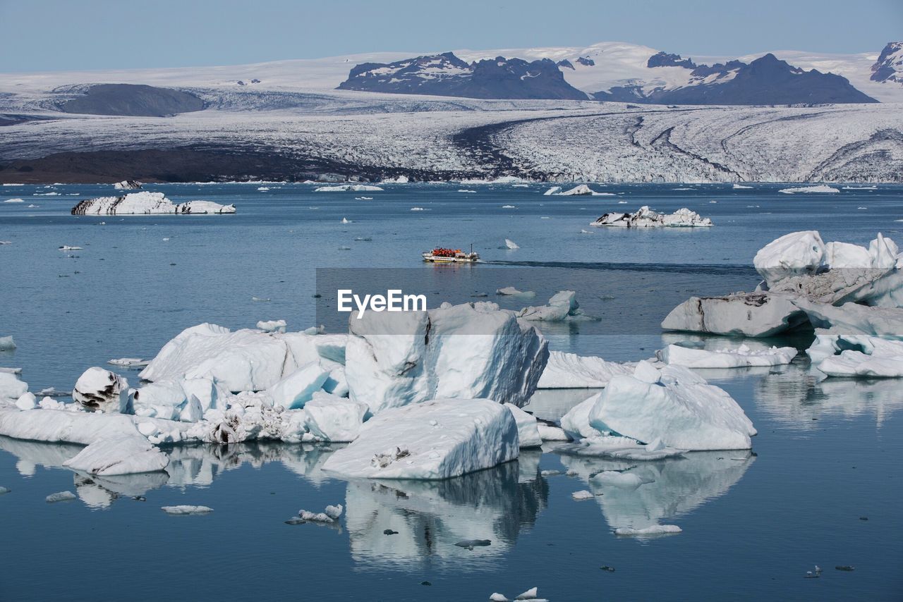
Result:
{"label": "smooth low white ice mound at lower left, touching the water", "polygon": [[100,477],[156,472],[169,465],[169,457],[140,435],[111,437],[91,443],[63,466]]}

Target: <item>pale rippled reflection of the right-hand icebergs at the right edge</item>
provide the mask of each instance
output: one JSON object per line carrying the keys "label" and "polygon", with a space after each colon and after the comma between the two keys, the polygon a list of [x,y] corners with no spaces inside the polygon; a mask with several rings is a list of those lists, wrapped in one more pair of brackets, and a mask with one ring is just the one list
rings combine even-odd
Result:
{"label": "pale rippled reflection of the right-hand icebergs at the right edge", "polygon": [[803,366],[787,366],[757,382],[753,398],[759,410],[800,431],[824,429],[818,418],[874,416],[876,426],[903,410],[900,384],[893,378],[828,378]]}

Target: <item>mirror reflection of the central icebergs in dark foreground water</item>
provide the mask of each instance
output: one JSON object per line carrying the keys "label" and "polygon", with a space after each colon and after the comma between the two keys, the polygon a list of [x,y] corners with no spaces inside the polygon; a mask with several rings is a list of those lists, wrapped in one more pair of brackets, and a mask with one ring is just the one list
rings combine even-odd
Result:
{"label": "mirror reflection of the central icebergs in dark foreground water", "polygon": [[[422,562],[491,570],[486,560],[513,547],[546,507],[540,456],[521,451],[516,461],[442,481],[349,481],[345,526],[352,558],[367,569]],[[473,540],[491,543],[461,545]]]}

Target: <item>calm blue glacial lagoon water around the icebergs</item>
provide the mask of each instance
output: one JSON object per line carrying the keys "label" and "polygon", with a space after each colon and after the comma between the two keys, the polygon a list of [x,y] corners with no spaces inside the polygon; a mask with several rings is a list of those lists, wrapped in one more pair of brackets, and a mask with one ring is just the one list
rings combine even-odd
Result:
{"label": "calm blue glacial lagoon water around the icebergs", "polygon": [[[312,295],[328,268],[424,271],[444,292],[468,273],[422,264],[419,254],[471,243],[488,263],[467,269],[498,270],[499,286],[537,292],[525,303],[482,291],[490,301],[543,302],[557,284],[549,274],[564,273],[588,313],[627,307],[647,325],[607,335],[552,328],[553,348],[639,359],[688,338],[656,332],[662,299],[753,288],[752,255],[777,236],[817,229],[825,240],[867,244],[881,232],[903,241],[899,186],[786,195],[770,184],[606,185],[594,188],[614,196],[572,198],[545,197],[542,185],[385,188],[150,185],[174,201],[234,202],[238,213],[76,218],[69,209],[79,199],[112,187],[3,187],[0,201],[23,203],[0,202],[0,240],[11,243],[0,245],[0,336],[19,346],[0,352],[0,366],[23,368],[34,392],[68,390],[88,366],[153,357],[203,321],[247,328],[284,319],[303,329],[317,321]],[[588,225],[641,205],[692,208],[716,226]],[[505,238],[521,248],[499,248]],[[462,298],[479,293],[462,282]],[[122,374],[137,384],[134,371]],[[799,357],[783,368],[703,375],[756,425],[754,453],[650,462],[641,469],[653,482],[628,490],[588,484],[628,465],[551,445],[437,483],[347,483],[321,473],[329,446],[265,443],[176,448],[168,474],[104,480],[61,468],[71,446],[0,438],[0,486],[12,490],[0,495],[0,598],[485,600],[534,586],[552,600],[903,597],[903,385],[819,382]],[[543,392],[529,409],[555,419],[590,393]],[[582,489],[602,495],[574,501]],[[79,499],[44,501],[65,490]],[[284,524],[300,508],[337,503],[346,506],[339,527]],[[214,512],[160,510],[177,504]],[[677,524],[683,533],[614,535],[625,523]],[[492,544],[454,545],[465,539]],[[805,579],[816,564],[821,577]]]}

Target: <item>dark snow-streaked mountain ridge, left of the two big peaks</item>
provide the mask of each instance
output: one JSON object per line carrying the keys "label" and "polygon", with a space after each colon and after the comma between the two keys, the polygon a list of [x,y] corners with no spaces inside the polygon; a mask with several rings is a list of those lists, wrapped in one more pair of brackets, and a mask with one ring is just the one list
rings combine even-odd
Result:
{"label": "dark snow-streaked mountain ridge, left of the two big peaks", "polygon": [[468,98],[587,98],[565,81],[552,60],[496,57],[468,64],[453,52],[363,63],[351,69],[339,89]]}

